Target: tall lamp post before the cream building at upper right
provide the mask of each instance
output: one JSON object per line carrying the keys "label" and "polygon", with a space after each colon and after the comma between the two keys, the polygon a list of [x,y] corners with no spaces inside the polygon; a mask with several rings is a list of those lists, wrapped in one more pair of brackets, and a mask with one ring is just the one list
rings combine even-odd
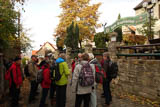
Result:
{"label": "tall lamp post before the cream building at upper right", "polygon": [[148,7],[149,2],[144,2],[143,3],[143,7],[145,8],[145,10],[149,13],[149,35],[148,35],[148,40],[153,39],[152,36],[152,17],[151,17],[151,13],[152,13],[152,9],[153,7],[156,5],[156,3],[158,2],[158,0],[151,0],[151,7]]}

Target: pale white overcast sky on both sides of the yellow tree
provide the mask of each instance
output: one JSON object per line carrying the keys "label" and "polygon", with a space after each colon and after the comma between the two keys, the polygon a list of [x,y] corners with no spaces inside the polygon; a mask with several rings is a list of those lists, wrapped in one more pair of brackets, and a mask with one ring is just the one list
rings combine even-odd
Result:
{"label": "pale white overcast sky on both sides of the yellow tree", "polygon": [[[101,13],[98,23],[106,23],[107,26],[114,23],[118,14],[121,17],[135,16],[134,7],[142,0],[91,0],[91,4],[101,2],[99,8]],[[34,42],[34,50],[38,50],[45,42],[55,44],[53,34],[59,23],[57,17],[62,12],[60,0],[27,0],[22,12],[22,23],[24,28],[30,29],[27,33]],[[96,30],[103,31],[103,28]]]}

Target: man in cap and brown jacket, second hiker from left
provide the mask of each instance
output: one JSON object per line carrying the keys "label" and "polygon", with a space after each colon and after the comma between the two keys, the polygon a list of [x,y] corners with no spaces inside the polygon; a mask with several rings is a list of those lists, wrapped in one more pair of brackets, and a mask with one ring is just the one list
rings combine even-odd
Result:
{"label": "man in cap and brown jacket, second hiker from left", "polygon": [[35,95],[36,95],[36,90],[37,90],[37,85],[38,83],[36,82],[36,77],[37,77],[37,56],[32,55],[31,56],[31,61],[28,64],[28,70],[29,70],[29,80],[31,83],[31,89],[30,89],[30,95],[29,95],[29,103],[32,103],[35,100]]}

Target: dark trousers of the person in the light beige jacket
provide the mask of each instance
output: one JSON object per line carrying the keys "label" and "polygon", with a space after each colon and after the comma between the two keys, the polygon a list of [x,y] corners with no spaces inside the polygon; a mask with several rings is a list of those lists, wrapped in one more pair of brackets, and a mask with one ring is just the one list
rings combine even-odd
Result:
{"label": "dark trousers of the person in the light beige jacket", "polygon": [[76,104],[75,107],[81,107],[82,101],[84,101],[83,107],[89,107],[91,94],[76,94]]}

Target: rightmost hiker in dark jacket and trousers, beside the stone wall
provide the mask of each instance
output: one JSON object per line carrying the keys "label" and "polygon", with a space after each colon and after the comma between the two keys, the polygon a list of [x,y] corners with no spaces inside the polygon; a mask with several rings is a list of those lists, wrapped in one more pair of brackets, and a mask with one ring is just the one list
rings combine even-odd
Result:
{"label": "rightmost hiker in dark jacket and trousers, beside the stone wall", "polygon": [[112,95],[110,90],[110,82],[112,81],[112,78],[109,77],[109,63],[111,60],[108,52],[103,53],[103,59],[103,69],[106,73],[106,79],[104,84],[105,104],[107,107],[109,107],[110,103],[112,102]]}

